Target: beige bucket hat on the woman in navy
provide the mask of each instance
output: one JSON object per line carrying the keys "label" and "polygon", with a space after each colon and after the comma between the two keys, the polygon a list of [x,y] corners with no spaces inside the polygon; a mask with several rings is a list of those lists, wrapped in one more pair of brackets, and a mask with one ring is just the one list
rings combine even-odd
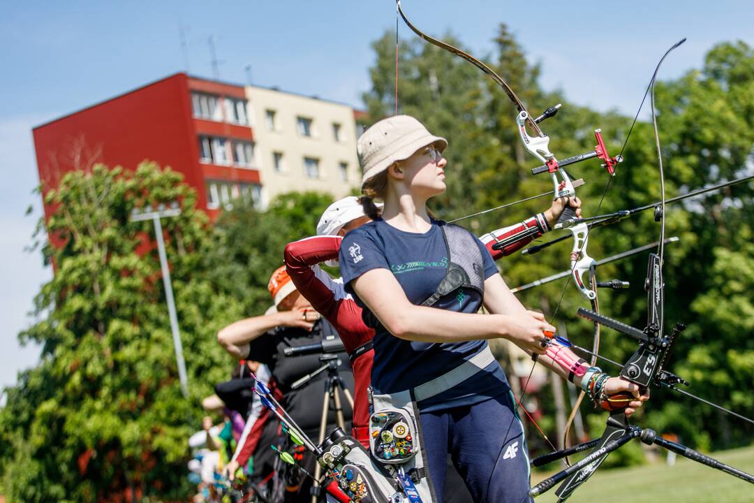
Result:
{"label": "beige bucket hat on the woman in navy", "polygon": [[448,146],[448,140],[434,136],[410,115],[394,115],[375,122],[359,137],[356,147],[364,173],[362,185],[395,161],[403,161],[433,143],[440,152]]}

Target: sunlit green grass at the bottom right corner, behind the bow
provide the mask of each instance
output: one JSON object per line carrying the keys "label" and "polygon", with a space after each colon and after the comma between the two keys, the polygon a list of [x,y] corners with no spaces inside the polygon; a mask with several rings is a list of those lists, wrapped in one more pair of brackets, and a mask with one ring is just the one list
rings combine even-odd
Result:
{"label": "sunlit green grass at the bottom right corner, behind the bow", "polygon": [[[754,474],[754,446],[713,452],[715,459]],[[533,474],[532,484],[544,479]],[[535,499],[536,503],[557,501],[555,489]],[[745,503],[754,502],[754,485],[722,471],[678,457],[676,464],[664,462],[638,468],[598,470],[568,500],[590,503]]]}

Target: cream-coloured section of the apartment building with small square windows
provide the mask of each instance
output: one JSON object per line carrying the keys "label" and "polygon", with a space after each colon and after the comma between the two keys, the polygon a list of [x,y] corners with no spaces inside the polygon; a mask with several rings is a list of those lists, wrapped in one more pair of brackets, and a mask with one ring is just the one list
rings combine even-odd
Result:
{"label": "cream-coloured section of the apartment building with small square windows", "polygon": [[256,86],[247,86],[246,96],[261,207],[284,192],[314,190],[341,198],[360,186],[351,106]]}

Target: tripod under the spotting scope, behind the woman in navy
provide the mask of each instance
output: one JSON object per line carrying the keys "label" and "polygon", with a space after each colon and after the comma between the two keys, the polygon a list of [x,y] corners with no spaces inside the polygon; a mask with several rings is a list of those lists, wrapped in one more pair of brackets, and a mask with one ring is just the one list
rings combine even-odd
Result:
{"label": "tripod under the spotting scope, behind the woman in navy", "polygon": [[[343,418],[343,408],[340,399],[339,390],[342,391],[345,399],[348,400],[348,404],[351,409],[354,409],[354,397],[351,396],[351,391],[345,386],[345,382],[341,379],[338,372],[338,366],[340,360],[337,354],[323,354],[320,356],[320,361],[323,362],[323,366],[314,370],[314,372],[303,376],[301,379],[293,382],[291,389],[296,390],[305,386],[307,382],[319,376],[320,373],[327,372],[327,381],[324,389],[324,396],[322,399],[322,416],[320,417],[320,434],[317,438],[317,445],[321,445],[325,440],[325,434],[327,431],[327,415],[329,413],[330,400],[333,400],[333,406],[336,414],[336,425],[345,430],[345,419]],[[322,492],[322,488],[319,485],[318,480],[322,474],[322,467],[319,463],[314,466],[314,485],[311,487],[311,503],[317,503],[317,498]]]}

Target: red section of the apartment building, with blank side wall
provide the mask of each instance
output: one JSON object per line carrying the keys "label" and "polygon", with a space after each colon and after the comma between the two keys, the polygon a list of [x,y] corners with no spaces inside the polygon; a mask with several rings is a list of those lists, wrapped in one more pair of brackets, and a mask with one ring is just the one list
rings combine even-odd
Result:
{"label": "red section of the apartment building, with blank side wall", "polygon": [[33,130],[43,189],[95,163],[135,170],[156,161],[183,173],[198,205],[259,201],[259,169],[243,86],[176,73]]}

